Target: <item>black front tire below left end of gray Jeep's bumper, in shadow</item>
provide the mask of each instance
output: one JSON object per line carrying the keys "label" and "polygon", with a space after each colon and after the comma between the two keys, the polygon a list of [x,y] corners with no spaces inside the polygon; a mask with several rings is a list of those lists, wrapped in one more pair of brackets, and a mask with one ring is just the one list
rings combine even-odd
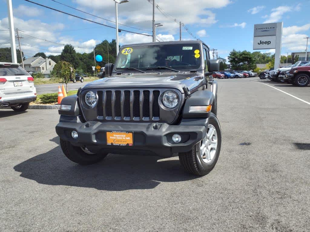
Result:
{"label": "black front tire below left end of gray Jeep's bumper, in shadow", "polygon": [[106,153],[91,153],[87,148],[73,146],[70,142],[62,139],[60,139],[60,147],[69,160],[81,165],[97,163],[108,155]]}

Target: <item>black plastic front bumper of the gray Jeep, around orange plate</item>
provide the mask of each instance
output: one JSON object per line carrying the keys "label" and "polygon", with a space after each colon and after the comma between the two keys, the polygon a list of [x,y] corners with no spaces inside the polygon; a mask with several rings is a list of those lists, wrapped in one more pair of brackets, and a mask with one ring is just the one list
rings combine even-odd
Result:
{"label": "black plastic front bumper of the gray Jeep, around orange plate", "polygon": [[[73,146],[86,146],[92,152],[140,153],[171,157],[174,153],[187,152],[206,136],[208,118],[196,122],[168,125],[166,123],[102,123],[102,122],[59,122],[56,133]],[[71,131],[78,132],[78,138],[71,137]],[[107,144],[107,131],[133,132],[133,146]],[[180,143],[172,135],[182,137]]]}

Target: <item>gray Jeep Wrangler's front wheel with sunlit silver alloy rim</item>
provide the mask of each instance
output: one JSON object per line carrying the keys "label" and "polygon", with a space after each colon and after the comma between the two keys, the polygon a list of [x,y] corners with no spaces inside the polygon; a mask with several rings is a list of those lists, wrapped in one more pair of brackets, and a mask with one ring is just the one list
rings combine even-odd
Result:
{"label": "gray Jeep Wrangler's front wheel with sunlit silver alloy rim", "polygon": [[215,166],[221,150],[221,127],[215,114],[211,114],[206,137],[195,144],[191,151],[179,153],[184,169],[194,175],[204,176]]}

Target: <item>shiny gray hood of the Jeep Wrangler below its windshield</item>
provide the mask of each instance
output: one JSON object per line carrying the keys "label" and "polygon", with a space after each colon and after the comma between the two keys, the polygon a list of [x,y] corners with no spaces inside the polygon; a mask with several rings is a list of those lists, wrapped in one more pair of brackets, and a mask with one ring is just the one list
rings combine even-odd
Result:
{"label": "shiny gray hood of the Jeep Wrangler below its windshield", "polygon": [[201,85],[203,76],[190,72],[126,73],[113,75],[86,84],[84,89],[98,88],[176,88],[184,93]]}

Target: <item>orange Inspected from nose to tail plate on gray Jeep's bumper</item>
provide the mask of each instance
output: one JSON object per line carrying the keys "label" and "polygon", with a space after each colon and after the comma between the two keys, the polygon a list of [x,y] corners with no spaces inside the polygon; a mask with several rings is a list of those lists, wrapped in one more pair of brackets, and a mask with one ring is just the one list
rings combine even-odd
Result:
{"label": "orange Inspected from nose to tail plate on gray Jeep's bumper", "polygon": [[107,145],[133,146],[133,132],[107,131]]}

